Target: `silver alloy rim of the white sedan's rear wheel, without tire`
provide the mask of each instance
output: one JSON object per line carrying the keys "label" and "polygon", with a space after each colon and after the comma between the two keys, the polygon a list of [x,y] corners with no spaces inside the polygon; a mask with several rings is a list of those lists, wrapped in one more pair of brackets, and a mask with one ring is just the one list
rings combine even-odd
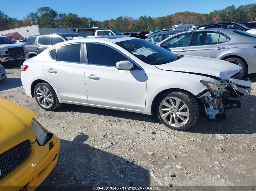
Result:
{"label": "silver alloy rim of the white sedan's rear wheel, without tire", "polygon": [[45,86],[39,86],[35,91],[35,96],[42,107],[49,108],[52,106],[52,93]]}

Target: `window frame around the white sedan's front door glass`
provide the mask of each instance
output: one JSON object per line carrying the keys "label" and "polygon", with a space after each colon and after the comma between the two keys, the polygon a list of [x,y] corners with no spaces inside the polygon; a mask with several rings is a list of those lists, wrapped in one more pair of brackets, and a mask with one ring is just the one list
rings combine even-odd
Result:
{"label": "window frame around the white sedan's front door glass", "polygon": [[139,64],[137,64],[133,59],[131,59],[129,56],[127,56],[125,53],[121,52],[120,50],[118,50],[117,48],[108,45],[108,44],[104,44],[104,43],[98,43],[98,42],[84,42],[84,48],[83,48],[83,57],[84,57],[84,64],[85,65],[94,65],[94,66],[104,66],[104,67],[111,67],[111,68],[117,68],[116,66],[108,66],[108,65],[100,65],[100,64],[90,64],[88,63],[88,55],[87,55],[87,44],[100,44],[100,45],[104,45],[104,46],[108,46],[112,49],[114,49],[115,51],[117,51],[118,53],[121,53],[123,56],[126,57],[126,59],[128,61],[130,61],[133,65],[135,65],[135,69],[134,70],[144,70]]}

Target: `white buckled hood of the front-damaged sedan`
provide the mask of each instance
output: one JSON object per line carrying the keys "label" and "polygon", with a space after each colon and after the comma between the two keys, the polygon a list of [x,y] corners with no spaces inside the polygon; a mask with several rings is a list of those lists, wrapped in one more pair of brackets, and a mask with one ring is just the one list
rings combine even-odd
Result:
{"label": "white buckled hood of the front-damaged sedan", "polygon": [[184,56],[174,62],[155,65],[161,70],[195,73],[198,75],[210,75],[227,80],[238,73],[242,67],[214,58],[202,56]]}

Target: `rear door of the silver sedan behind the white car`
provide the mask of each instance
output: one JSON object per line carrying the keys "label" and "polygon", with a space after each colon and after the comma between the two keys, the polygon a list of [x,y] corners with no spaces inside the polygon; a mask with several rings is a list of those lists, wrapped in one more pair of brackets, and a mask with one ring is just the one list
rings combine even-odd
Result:
{"label": "rear door of the silver sedan behind the white car", "polygon": [[191,56],[205,56],[219,59],[231,46],[228,36],[218,31],[197,32],[189,49]]}

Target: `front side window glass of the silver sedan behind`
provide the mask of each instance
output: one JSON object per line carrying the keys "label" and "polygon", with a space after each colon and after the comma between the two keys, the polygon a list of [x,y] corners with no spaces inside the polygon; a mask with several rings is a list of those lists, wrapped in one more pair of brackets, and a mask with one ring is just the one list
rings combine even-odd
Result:
{"label": "front side window glass of the silver sedan behind", "polygon": [[185,33],[171,37],[161,44],[163,48],[185,47],[188,46],[192,33]]}

